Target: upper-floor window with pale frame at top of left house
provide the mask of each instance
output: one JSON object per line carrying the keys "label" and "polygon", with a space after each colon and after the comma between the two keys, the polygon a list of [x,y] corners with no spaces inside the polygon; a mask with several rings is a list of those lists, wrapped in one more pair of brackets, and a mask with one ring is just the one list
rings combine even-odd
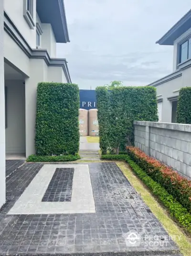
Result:
{"label": "upper-floor window with pale frame at top of left house", "polygon": [[35,23],[33,21],[33,4],[34,0],[23,0],[23,16],[31,29],[34,29]]}

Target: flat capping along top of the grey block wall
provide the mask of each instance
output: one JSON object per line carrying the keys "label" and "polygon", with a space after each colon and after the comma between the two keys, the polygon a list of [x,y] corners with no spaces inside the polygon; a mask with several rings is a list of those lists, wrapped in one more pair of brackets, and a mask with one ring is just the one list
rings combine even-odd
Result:
{"label": "flat capping along top of the grey block wall", "polygon": [[163,129],[191,132],[191,125],[188,125],[188,124],[173,124],[173,123],[162,123],[162,122],[134,121],[134,125],[149,126],[149,127],[155,127],[155,128],[163,128]]}

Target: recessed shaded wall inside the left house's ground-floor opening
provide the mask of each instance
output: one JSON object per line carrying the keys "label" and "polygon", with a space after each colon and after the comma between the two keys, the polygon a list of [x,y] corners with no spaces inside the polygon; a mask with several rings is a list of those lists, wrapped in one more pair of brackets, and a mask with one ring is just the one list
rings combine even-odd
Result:
{"label": "recessed shaded wall inside the left house's ground-floor opening", "polygon": [[7,87],[6,153],[25,153],[25,85],[5,81]]}

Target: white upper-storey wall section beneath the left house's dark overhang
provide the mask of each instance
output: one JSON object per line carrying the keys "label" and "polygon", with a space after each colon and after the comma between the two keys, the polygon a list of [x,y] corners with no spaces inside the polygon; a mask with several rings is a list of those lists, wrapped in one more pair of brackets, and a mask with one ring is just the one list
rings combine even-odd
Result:
{"label": "white upper-storey wall section beneath the left house's dark overhang", "polygon": [[56,40],[51,24],[42,23],[42,49],[47,49],[51,58],[56,58]]}

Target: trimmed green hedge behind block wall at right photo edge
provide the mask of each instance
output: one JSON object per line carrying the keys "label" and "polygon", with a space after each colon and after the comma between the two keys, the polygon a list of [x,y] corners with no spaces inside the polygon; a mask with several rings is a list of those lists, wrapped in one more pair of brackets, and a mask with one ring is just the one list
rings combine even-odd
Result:
{"label": "trimmed green hedge behind block wall at right photo edge", "polygon": [[191,124],[191,87],[180,89],[177,106],[177,123]]}

